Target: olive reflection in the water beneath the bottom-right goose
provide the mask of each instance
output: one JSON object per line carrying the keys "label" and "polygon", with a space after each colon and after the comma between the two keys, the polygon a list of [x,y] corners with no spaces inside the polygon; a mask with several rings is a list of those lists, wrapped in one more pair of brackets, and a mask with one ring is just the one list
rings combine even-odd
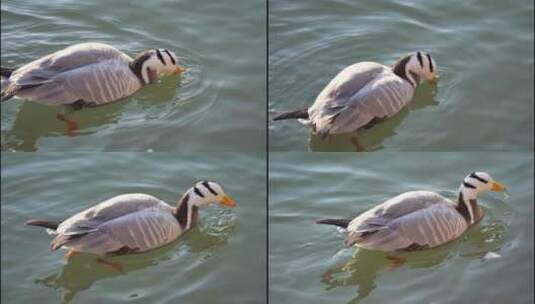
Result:
{"label": "olive reflection in the water beneath the bottom-right goose", "polygon": [[388,253],[357,248],[351,259],[325,271],[321,282],[326,290],[357,287],[355,297],[348,303],[360,303],[377,288],[376,280],[382,273],[401,267],[432,269],[456,256],[484,261],[488,252],[501,250],[506,231],[507,224],[504,222],[488,221],[472,227],[465,237],[443,246],[398,254],[406,259],[401,265],[393,264]]}

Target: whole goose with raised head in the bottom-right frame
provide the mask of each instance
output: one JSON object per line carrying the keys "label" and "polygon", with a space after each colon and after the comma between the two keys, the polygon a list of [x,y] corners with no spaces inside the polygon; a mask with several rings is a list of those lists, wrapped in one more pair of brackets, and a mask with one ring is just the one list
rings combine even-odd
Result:
{"label": "whole goose with raised head in the bottom-right frame", "polygon": [[352,220],[322,219],[318,224],[347,231],[345,245],[383,252],[433,248],[453,241],[479,222],[479,194],[505,191],[487,172],[472,172],[459,186],[454,202],[432,191],[399,194]]}

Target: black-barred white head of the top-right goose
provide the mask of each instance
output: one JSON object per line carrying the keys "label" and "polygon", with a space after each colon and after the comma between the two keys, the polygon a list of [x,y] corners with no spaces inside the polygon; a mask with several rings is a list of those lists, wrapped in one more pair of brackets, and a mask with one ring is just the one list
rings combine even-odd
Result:
{"label": "black-barred white head of the top-right goose", "polygon": [[394,73],[416,87],[424,79],[434,81],[437,78],[437,64],[426,52],[410,53],[399,59],[392,67]]}

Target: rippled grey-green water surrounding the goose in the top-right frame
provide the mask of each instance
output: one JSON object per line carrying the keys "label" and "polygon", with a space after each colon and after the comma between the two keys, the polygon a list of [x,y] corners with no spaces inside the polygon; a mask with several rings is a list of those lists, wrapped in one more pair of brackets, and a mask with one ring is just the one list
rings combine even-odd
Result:
{"label": "rippled grey-green water surrounding the goose in the top-right frame", "polygon": [[[344,67],[427,50],[441,76],[359,135],[371,151],[533,150],[533,1],[270,1],[269,116],[311,105]],[[270,150],[354,150],[270,124]]]}

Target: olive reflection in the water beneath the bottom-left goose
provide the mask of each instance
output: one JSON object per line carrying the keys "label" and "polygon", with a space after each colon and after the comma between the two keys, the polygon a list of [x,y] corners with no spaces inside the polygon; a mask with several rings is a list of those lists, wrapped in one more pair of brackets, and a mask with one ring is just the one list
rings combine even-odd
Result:
{"label": "olive reflection in the water beneath the bottom-left goose", "polygon": [[[230,215],[227,219],[230,219]],[[80,254],[69,259],[68,263],[58,273],[38,278],[35,283],[59,290],[61,303],[73,303],[75,296],[79,292],[89,289],[93,283],[103,279],[126,276],[173,260],[179,260],[176,263],[180,263],[180,260],[184,260],[186,256],[191,254],[195,256],[195,260],[202,263],[210,258],[219,247],[227,243],[234,226],[234,221],[231,220],[219,227],[207,229],[195,227],[183,238],[179,238],[167,246],[146,253],[110,258],[111,261],[121,264],[120,271],[98,262],[95,255]],[[198,263],[195,263],[192,267],[195,268],[198,265]],[[187,271],[192,267],[181,267],[181,269],[186,269]]]}

